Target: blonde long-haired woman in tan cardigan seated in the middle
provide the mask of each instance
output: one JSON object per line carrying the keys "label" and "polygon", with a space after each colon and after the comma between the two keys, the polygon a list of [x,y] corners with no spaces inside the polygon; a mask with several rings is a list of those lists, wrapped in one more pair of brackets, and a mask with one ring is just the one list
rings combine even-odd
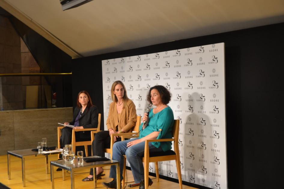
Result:
{"label": "blonde long-haired woman in tan cardigan seated in the middle", "polygon": [[[93,155],[104,157],[105,148],[110,148],[110,135],[115,133],[132,132],[136,123],[136,108],[126,94],[126,88],[121,81],[115,81],[111,86],[111,100],[109,105],[108,119],[106,125],[108,131],[100,131],[95,134],[92,142]],[[120,137],[114,137],[114,141],[121,141]],[[97,178],[104,176],[102,167],[96,168]],[[90,175],[82,181],[93,181],[93,169]]]}

